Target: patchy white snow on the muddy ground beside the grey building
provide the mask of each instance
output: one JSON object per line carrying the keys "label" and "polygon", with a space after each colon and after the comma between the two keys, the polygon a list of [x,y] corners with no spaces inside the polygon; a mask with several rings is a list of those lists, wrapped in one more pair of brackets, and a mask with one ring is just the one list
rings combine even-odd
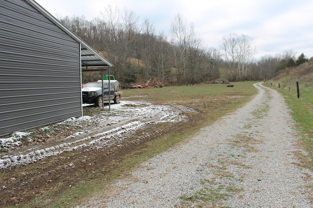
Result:
{"label": "patchy white snow on the muddy ground beside the grey building", "polygon": [[[95,116],[82,116],[79,118],[69,118],[58,124],[80,125],[80,122],[97,122],[100,126],[110,126],[112,124],[119,124],[123,121],[128,121],[123,125],[113,127],[110,130],[84,136],[88,132],[76,132],[65,138],[60,138],[60,143],[53,147],[45,149],[37,149],[28,153],[15,153],[14,155],[4,155],[0,157],[0,169],[7,169],[10,167],[19,167],[37,162],[46,157],[62,154],[63,152],[77,151],[84,148],[85,151],[94,148],[99,149],[110,145],[119,145],[120,141],[127,139],[132,132],[144,127],[148,124],[159,122],[182,122],[187,121],[187,117],[183,115],[184,112],[194,112],[193,109],[186,108],[181,105],[152,105],[149,102],[143,101],[123,101],[120,104],[111,105],[111,111],[101,111]],[[134,119],[134,121],[131,121]],[[42,130],[49,127],[43,127]],[[91,131],[89,131],[91,132]],[[22,136],[29,133],[15,132],[9,138],[1,138],[1,147],[14,148],[21,145],[19,141]],[[78,136],[82,138],[75,140]],[[149,136],[148,134],[146,136]],[[31,138],[29,138],[31,139]]]}

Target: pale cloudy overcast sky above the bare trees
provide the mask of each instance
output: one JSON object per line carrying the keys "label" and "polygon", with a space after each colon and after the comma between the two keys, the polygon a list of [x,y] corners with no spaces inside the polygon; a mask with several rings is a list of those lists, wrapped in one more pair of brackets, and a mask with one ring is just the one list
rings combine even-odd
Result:
{"label": "pale cloudy overcast sky above the bare trees", "polygon": [[313,0],[36,0],[55,17],[101,17],[105,7],[134,11],[140,22],[154,25],[155,34],[170,33],[180,14],[194,24],[207,47],[219,49],[223,36],[244,34],[254,39],[255,58],[292,50],[313,57]]}

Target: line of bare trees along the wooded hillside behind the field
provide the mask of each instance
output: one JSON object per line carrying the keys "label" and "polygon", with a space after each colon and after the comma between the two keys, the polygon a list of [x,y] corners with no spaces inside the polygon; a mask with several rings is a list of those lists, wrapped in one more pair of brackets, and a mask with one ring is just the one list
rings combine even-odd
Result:
{"label": "line of bare trees along the wooded hillside behind the field", "polygon": [[[59,17],[77,36],[102,54],[114,66],[111,74],[120,82],[146,83],[151,79],[171,85],[192,85],[216,79],[228,81],[270,79],[286,67],[308,61],[295,53],[263,56],[255,60],[253,38],[230,33],[222,37],[220,48],[207,47],[196,35],[193,23],[177,14],[170,35],[157,34],[149,19],[139,22],[134,11],[107,6],[100,17]],[[83,82],[99,78],[83,75]]]}

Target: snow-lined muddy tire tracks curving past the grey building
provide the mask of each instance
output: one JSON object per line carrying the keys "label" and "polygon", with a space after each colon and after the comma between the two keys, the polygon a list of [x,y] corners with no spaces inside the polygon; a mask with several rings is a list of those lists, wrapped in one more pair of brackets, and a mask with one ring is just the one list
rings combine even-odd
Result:
{"label": "snow-lined muddy tire tracks curving past the grey building", "polygon": [[[0,169],[19,167],[37,162],[41,159],[59,155],[65,152],[91,151],[94,149],[120,146],[122,141],[127,140],[131,134],[147,125],[162,122],[179,122],[185,117],[183,111],[193,111],[184,106],[144,106],[144,111],[135,109],[135,117],[115,122],[92,132],[69,136],[69,139],[52,142],[45,147],[35,147],[14,155],[5,155],[0,158]],[[129,107],[128,107],[129,109]],[[121,113],[122,116],[123,113]],[[149,135],[145,135],[148,137]],[[144,136],[142,138],[144,139]]]}

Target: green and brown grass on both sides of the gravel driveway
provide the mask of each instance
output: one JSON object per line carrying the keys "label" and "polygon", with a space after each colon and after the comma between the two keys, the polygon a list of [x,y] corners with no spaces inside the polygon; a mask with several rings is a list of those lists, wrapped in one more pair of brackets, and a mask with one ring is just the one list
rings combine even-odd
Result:
{"label": "green and brown grass on both sides of the gravel driveway", "polygon": [[[110,174],[92,173],[92,175],[82,178],[79,183],[70,189],[62,191],[59,198],[52,197],[53,192],[56,191],[52,190],[46,194],[46,198],[36,198],[30,205],[22,207],[73,207],[75,204],[90,200],[90,197],[97,193],[103,194],[114,181],[127,177],[130,170],[136,165],[154,157],[156,154],[167,151],[179,142],[190,139],[202,127],[210,125],[226,113],[233,112],[243,106],[257,93],[253,83],[255,82],[236,82],[233,83],[235,86],[232,88],[220,84],[199,84],[123,90],[121,102],[123,102],[123,99],[127,99],[134,101],[146,100],[155,104],[179,104],[193,108],[199,113],[186,113],[189,117],[188,123],[179,124],[175,130],[139,144],[131,152],[121,155],[118,161],[112,163],[112,167],[109,166],[112,170],[107,172]],[[302,136],[302,143],[299,143],[299,145],[309,152],[309,155],[298,156],[306,164],[306,167],[313,169],[313,85],[300,84],[300,98],[297,98],[295,87],[289,87],[281,82],[281,88],[278,88],[278,83],[279,81],[275,83],[268,82],[264,85],[272,87],[284,95],[291,109],[291,115],[297,122],[299,134]],[[162,128],[162,126],[156,128]],[[97,174],[97,177],[95,177],[95,174]],[[103,180],[104,178],[105,180]]]}

